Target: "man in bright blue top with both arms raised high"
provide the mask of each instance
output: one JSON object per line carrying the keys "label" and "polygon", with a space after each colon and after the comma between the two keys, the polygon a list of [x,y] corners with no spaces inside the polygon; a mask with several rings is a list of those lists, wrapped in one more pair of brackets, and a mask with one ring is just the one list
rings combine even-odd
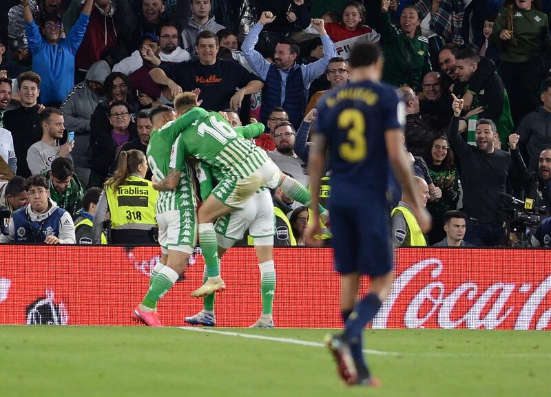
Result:
{"label": "man in bright blue top with both arms raised high", "polygon": [[28,0],[21,0],[25,31],[32,54],[32,69],[43,79],[41,101],[45,105],[59,107],[74,86],[74,56],[86,32],[93,3],[94,0],[86,0],[81,16],[70,34],[61,39],[59,16],[45,16],[39,30],[34,23]]}

